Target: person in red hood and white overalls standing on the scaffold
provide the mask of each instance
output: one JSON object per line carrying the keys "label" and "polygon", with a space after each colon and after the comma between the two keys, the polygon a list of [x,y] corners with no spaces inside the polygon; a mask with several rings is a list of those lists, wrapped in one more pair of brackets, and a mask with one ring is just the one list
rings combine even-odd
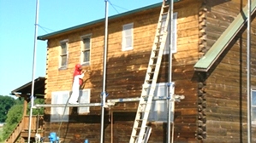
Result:
{"label": "person in red hood and white overalls standing on the scaffold", "polygon": [[73,74],[73,84],[72,84],[72,94],[70,99],[68,100],[69,104],[78,104],[79,98],[79,89],[80,85],[83,83],[82,78],[84,77],[84,72],[81,71],[80,64],[76,64],[74,66],[74,74]]}

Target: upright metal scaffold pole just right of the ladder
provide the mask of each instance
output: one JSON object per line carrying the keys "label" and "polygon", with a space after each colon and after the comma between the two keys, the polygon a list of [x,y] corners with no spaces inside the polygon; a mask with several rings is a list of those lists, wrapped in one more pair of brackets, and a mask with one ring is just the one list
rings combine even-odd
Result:
{"label": "upright metal scaffold pole just right of the ladder", "polygon": [[[169,74],[168,74],[168,83],[171,83],[172,81],[172,24],[173,24],[173,0],[170,0],[169,2],[169,16],[170,16],[170,19],[169,19],[169,34],[170,34],[170,39],[169,39],[169,42],[170,42],[170,46],[169,46]],[[170,88],[173,88],[171,86],[168,86],[168,100],[167,100],[167,106],[168,106],[168,115],[167,115],[167,143],[170,143],[170,123],[172,123],[172,127],[174,127],[174,122],[173,122],[173,119],[171,120],[170,116],[171,116],[171,110],[172,110],[172,106],[174,106],[173,103],[171,102],[174,102],[174,100],[172,100],[172,96],[174,93],[171,94],[171,90]],[[174,111],[173,111],[174,112]],[[174,115],[174,113],[173,113]],[[172,117],[173,118],[173,117]],[[173,134],[173,131],[172,131],[172,134]],[[173,142],[173,135],[172,135],[172,142]]]}

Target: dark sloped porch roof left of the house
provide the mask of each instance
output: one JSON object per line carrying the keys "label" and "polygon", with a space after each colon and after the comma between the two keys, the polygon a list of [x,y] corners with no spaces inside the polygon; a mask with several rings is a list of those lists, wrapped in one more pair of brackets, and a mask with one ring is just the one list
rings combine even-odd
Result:
{"label": "dark sloped porch roof left of the house", "polygon": [[[11,91],[11,94],[16,95],[30,95],[32,88],[32,81],[22,85],[21,87]],[[45,95],[45,77],[38,77],[34,80],[34,95],[43,96]]]}

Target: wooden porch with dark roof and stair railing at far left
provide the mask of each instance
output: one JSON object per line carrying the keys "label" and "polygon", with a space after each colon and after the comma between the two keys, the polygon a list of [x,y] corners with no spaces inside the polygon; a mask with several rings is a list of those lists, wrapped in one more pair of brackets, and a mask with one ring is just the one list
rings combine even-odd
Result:
{"label": "wooden porch with dark roof and stair railing at far left", "polygon": [[[23,116],[21,118],[20,123],[18,123],[15,129],[9,134],[9,138],[5,140],[6,143],[13,142],[26,142],[28,138],[29,131],[29,120],[31,119],[31,136],[34,138],[35,134],[44,134],[43,123],[44,116],[43,115],[33,115],[29,117],[27,115],[27,106],[31,100],[31,89],[32,82],[26,83],[21,87],[14,89],[11,91],[12,95],[21,98],[23,101]],[[34,97],[36,99],[44,99],[45,96],[45,77],[38,77],[34,79]]]}

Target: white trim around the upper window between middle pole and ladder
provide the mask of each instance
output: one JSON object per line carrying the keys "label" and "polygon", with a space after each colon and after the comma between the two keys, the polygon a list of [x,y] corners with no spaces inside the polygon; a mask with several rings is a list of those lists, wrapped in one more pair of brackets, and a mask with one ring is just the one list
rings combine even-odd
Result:
{"label": "white trim around the upper window between middle pole and ladder", "polygon": [[[125,33],[124,33],[124,27],[126,26],[132,26],[131,27],[131,47],[126,47],[125,45]],[[134,49],[134,23],[129,23],[129,24],[126,24],[126,25],[123,25],[122,26],[122,51],[128,51],[128,50],[131,50],[131,49]]]}

